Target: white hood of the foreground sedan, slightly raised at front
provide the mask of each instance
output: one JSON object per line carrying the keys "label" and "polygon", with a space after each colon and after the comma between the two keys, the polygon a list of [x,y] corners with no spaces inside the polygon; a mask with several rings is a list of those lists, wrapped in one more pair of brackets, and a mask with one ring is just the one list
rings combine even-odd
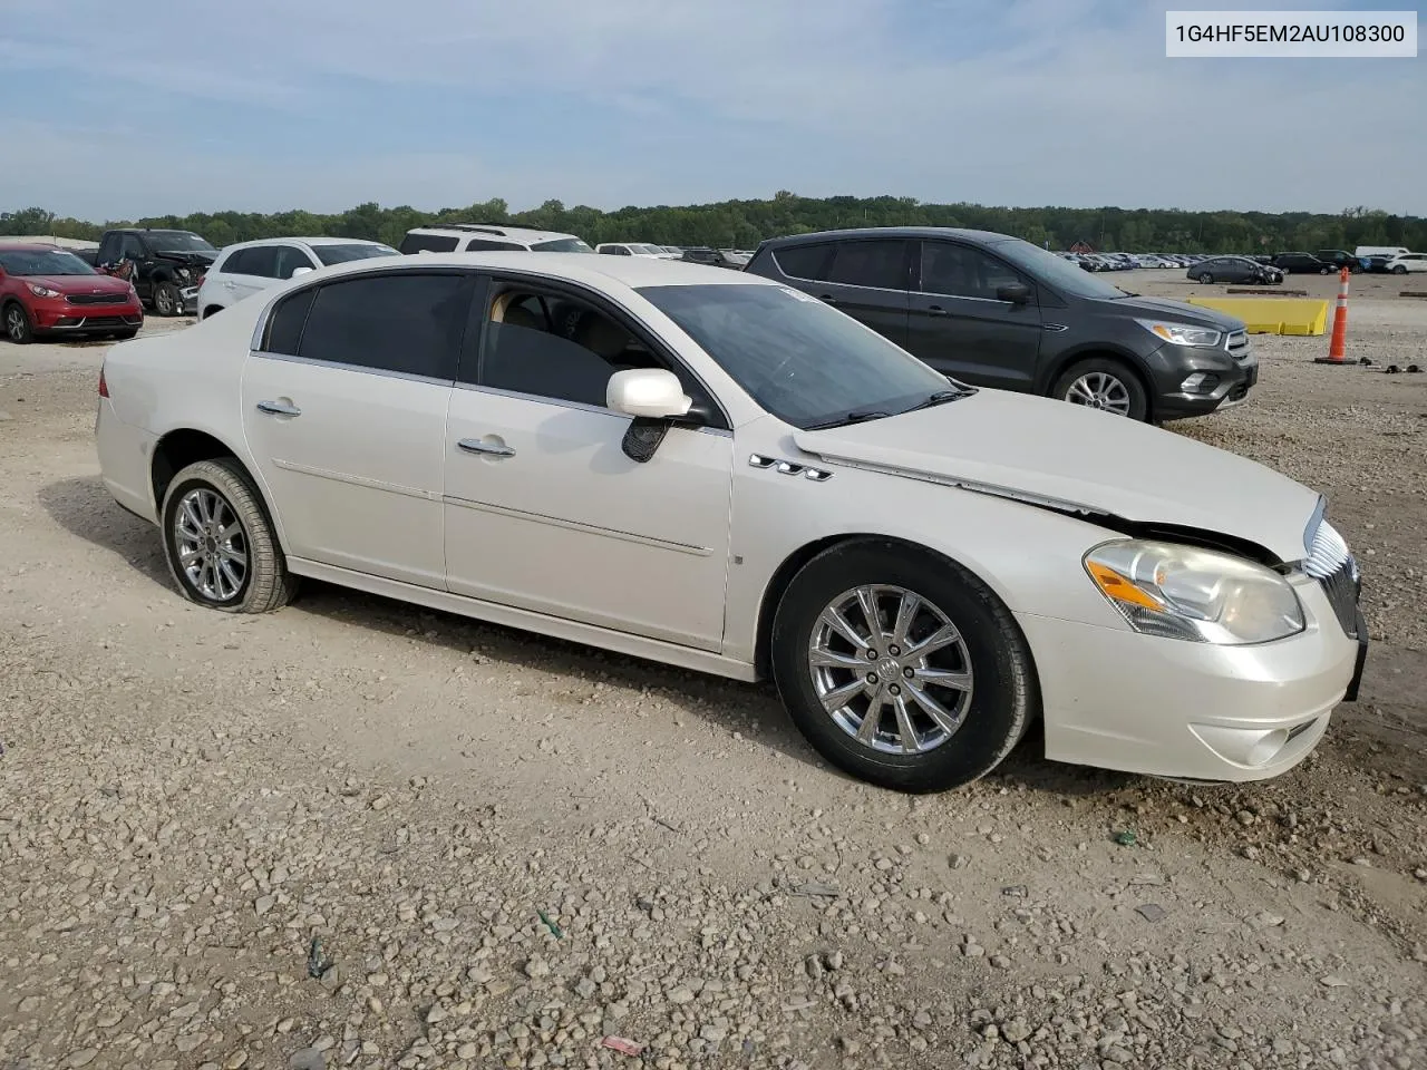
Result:
{"label": "white hood of the foreground sedan, slightly raised at front", "polygon": [[1271,468],[1172,431],[999,389],[886,419],[798,431],[793,441],[832,464],[1227,535],[1280,561],[1304,556],[1320,501]]}

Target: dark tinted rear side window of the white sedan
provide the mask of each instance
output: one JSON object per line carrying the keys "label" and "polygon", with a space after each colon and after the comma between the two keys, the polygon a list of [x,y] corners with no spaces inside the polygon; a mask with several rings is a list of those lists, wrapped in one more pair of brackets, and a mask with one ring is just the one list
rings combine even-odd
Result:
{"label": "dark tinted rear side window of the white sedan", "polygon": [[472,285],[472,275],[402,271],[338,280],[315,294],[300,291],[278,305],[265,348],[280,352],[277,344],[290,345],[308,301],[295,355],[454,381]]}

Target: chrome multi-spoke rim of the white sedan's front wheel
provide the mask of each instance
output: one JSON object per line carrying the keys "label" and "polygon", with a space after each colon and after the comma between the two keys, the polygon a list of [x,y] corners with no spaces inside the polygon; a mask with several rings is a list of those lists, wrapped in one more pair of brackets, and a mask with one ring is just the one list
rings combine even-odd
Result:
{"label": "chrome multi-spoke rim of the white sedan's front wheel", "polygon": [[970,709],[962,633],[935,603],[902,586],[863,585],[832,599],[809,638],[808,671],[833,723],[883,753],[933,750]]}

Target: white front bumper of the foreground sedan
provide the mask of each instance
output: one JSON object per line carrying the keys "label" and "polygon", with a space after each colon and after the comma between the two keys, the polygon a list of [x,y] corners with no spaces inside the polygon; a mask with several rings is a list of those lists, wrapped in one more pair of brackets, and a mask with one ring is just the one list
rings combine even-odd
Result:
{"label": "white front bumper of the foreground sedan", "polygon": [[1040,675],[1046,758],[1187,780],[1264,780],[1317,746],[1366,659],[1323,588],[1296,582],[1307,628],[1260,646],[1159,639],[1017,615]]}

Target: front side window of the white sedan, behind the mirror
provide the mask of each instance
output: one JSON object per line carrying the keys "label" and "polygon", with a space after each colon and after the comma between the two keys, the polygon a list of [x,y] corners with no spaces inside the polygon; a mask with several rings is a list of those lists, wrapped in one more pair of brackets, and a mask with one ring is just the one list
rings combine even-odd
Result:
{"label": "front side window of the white sedan, behind the mirror", "polygon": [[606,310],[527,285],[492,292],[481,352],[482,387],[604,408],[609,377],[629,368],[668,368],[695,404],[715,411],[686,368],[671,365]]}

